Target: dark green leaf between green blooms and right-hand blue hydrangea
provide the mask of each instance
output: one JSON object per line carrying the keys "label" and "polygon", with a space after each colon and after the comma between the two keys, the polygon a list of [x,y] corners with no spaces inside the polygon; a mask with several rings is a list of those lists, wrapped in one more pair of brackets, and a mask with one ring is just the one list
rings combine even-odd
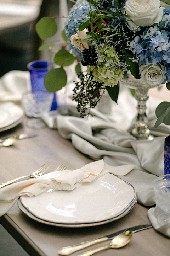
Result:
{"label": "dark green leaf between green blooms and right-hand blue hydrangea", "polygon": [[131,71],[131,74],[136,78],[139,79],[141,76],[139,75],[139,67],[138,65],[136,65],[136,62],[132,61],[133,58],[133,54],[126,51],[125,52],[125,60],[126,60],[126,64],[129,67],[129,70]]}

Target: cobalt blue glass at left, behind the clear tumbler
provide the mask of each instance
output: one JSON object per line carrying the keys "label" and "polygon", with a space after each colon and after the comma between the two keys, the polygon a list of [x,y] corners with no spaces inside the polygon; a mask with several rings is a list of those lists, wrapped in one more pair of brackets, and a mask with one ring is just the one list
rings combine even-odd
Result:
{"label": "cobalt blue glass at left, behind the clear tumbler", "polygon": [[[44,86],[44,78],[46,74],[50,71],[52,62],[47,60],[35,60],[27,65],[30,72],[31,79],[31,90],[34,91],[47,91]],[[51,110],[57,109],[56,94],[54,93],[54,98],[52,101]]]}

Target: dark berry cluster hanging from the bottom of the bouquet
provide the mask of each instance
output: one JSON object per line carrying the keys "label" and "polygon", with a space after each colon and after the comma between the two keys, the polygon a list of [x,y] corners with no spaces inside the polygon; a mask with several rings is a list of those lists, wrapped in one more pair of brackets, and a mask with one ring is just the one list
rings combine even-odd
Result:
{"label": "dark berry cluster hanging from the bottom of the bouquet", "polygon": [[92,81],[92,74],[79,73],[79,82],[75,82],[73,89],[73,100],[77,104],[77,111],[80,112],[80,117],[89,116],[91,108],[94,108],[100,101],[105,85]]}

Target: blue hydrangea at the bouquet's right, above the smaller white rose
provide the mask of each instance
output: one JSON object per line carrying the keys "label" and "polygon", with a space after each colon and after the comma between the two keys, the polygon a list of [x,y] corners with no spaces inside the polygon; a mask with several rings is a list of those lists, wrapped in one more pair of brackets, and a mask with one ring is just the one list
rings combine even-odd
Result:
{"label": "blue hydrangea at the bouquet's right, above the smaller white rose", "polygon": [[170,81],[170,29],[167,29],[168,26],[170,28],[170,6],[165,8],[162,21],[158,25],[146,28],[130,43],[139,66],[162,63],[166,67],[166,81]]}

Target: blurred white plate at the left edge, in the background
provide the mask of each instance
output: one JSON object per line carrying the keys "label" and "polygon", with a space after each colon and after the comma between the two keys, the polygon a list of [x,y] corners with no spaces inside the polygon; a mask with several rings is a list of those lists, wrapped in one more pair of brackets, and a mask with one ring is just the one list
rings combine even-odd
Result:
{"label": "blurred white plate at the left edge, in the background", "polygon": [[13,102],[0,103],[0,132],[11,129],[23,121],[25,114]]}

